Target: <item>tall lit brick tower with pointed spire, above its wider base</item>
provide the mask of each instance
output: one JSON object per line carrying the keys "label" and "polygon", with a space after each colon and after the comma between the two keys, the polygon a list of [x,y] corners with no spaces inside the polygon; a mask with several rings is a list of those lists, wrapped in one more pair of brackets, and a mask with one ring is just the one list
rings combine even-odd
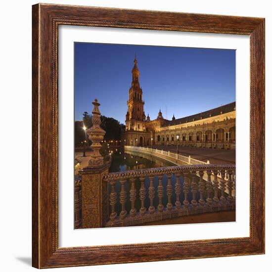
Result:
{"label": "tall lit brick tower with pointed spire, above its wider base", "polygon": [[135,55],[134,67],[132,69],[132,84],[129,90],[127,101],[128,112],[126,114],[126,130],[144,131],[145,114],[143,110],[144,101],[142,100],[142,89],[139,84],[139,69],[137,67]]}

